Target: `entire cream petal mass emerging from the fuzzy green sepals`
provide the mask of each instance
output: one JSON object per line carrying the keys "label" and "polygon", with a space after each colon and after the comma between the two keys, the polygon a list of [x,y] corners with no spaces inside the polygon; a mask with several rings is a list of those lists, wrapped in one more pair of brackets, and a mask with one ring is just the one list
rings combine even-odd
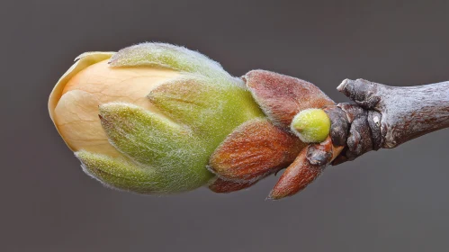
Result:
{"label": "entire cream petal mass emerging from the fuzzy green sepals", "polygon": [[[114,156],[119,154],[108,143],[98,119],[98,105],[102,103],[134,103],[164,116],[148,102],[146,95],[158,83],[178,73],[154,67],[112,68],[107,64],[112,54],[89,52],[80,55],[50,94],[50,117],[67,146],[74,151],[85,149]],[[73,91],[83,93],[64,95]]]}

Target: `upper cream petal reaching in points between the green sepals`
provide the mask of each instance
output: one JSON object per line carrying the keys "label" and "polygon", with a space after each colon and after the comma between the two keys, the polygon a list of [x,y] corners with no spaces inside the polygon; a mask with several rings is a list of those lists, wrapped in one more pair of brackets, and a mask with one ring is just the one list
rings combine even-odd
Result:
{"label": "upper cream petal reaching in points between the green sepals", "polygon": [[62,94],[82,90],[93,94],[100,103],[132,103],[165,116],[149,102],[147,94],[157,85],[176,76],[179,76],[179,73],[170,69],[109,67],[107,60],[103,60],[73,76]]}

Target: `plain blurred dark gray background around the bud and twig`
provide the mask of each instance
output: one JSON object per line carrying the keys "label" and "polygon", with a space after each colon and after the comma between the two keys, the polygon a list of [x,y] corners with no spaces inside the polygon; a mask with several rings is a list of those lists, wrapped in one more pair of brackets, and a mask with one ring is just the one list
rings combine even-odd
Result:
{"label": "plain blurred dark gray background around the bud and twig", "polygon": [[449,80],[449,4],[434,1],[2,1],[1,251],[445,251],[449,130],[328,168],[302,193],[168,197],[104,188],[47,112],[80,53],[166,41],[241,76],[298,76],[338,102],[346,77]]}

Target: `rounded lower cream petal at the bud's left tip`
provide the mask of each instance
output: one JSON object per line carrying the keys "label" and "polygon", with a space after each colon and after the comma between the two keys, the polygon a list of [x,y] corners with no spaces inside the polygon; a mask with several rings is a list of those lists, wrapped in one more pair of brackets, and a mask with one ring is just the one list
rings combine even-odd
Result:
{"label": "rounded lower cream petal at the bud's left tip", "polygon": [[54,110],[54,121],[67,146],[117,157],[98,118],[100,101],[93,94],[74,90],[62,95]]}

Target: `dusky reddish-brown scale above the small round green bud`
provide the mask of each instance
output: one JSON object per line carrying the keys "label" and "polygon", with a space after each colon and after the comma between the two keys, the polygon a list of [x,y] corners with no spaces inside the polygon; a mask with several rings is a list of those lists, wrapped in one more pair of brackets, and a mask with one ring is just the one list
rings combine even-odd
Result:
{"label": "dusky reddish-brown scale above the small round green bud", "polygon": [[265,114],[286,128],[302,110],[335,104],[316,85],[292,76],[253,70],[242,78]]}

